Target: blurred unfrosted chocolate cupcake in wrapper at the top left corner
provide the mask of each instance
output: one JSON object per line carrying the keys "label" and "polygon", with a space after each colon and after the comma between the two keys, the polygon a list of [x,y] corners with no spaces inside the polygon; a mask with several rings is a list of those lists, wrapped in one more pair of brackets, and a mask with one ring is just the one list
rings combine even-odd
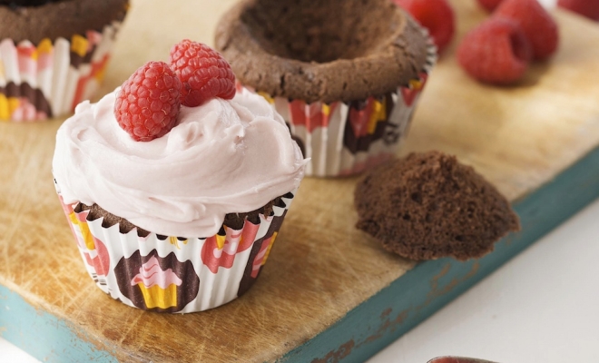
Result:
{"label": "blurred unfrosted chocolate cupcake in wrapper at the top left corner", "polygon": [[0,121],[71,113],[103,79],[129,0],[1,0]]}

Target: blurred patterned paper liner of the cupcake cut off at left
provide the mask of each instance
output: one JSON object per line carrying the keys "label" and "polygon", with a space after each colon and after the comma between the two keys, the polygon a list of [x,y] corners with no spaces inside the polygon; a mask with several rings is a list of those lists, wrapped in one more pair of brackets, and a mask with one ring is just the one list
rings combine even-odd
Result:
{"label": "blurred patterned paper liner of the cupcake cut off at left", "polygon": [[102,33],[39,44],[0,40],[0,121],[33,122],[66,113],[92,97],[103,80],[120,21]]}

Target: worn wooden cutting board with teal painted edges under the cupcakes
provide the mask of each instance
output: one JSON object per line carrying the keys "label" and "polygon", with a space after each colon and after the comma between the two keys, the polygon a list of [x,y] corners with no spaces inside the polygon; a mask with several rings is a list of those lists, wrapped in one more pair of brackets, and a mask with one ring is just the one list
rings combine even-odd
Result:
{"label": "worn wooden cutting board with teal painted edges under the cupcakes", "polygon": [[[233,0],[133,0],[103,93],[189,37],[212,43]],[[54,194],[61,121],[0,124],[0,335],[44,361],[360,361],[599,196],[599,25],[556,12],[562,44],[517,87],[476,83],[457,41],[486,16],[454,0],[457,37],[402,151],[442,150],[514,202],[523,231],[480,260],[415,263],[357,231],[355,178],[306,179],[258,282],[219,309],[162,315],[97,289]],[[327,201],[327,202],[322,202]]]}

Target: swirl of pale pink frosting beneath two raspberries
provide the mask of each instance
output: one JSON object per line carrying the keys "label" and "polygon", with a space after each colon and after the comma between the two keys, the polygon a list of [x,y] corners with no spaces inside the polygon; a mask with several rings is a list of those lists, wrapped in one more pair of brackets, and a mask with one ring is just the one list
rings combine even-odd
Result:
{"label": "swirl of pale pink frosting beneath two raspberries", "polygon": [[114,118],[117,92],[79,104],[56,134],[64,202],[97,203],[158,234],[210,237],[225,214],[255,211],[300,185],[307,161],[260,95],[182,106],[171,132],[135,142]]}

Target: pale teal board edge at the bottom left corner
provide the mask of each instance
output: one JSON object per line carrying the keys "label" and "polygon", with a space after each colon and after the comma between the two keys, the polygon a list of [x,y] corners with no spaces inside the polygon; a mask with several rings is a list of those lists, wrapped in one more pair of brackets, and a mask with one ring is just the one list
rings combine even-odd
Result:
{"label": "pale teal board edge at the bottom left corner", "polygon": [[117,362],[111,352],[95,348],[83,332],[34,309],[19,294],[0,285],[0,336],[43,362]]}

